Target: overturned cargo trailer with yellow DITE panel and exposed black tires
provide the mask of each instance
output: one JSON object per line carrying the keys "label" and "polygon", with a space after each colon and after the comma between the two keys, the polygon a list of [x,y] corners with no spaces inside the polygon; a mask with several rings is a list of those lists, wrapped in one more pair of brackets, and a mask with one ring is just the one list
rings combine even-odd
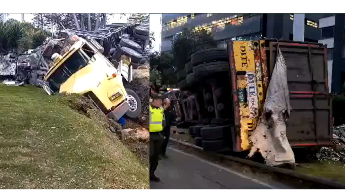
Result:
{"label": "overturned cargo trailer with yellow DITE panel and exposed black tires", "polygon": [[193,123],[189,130],[196,145],[216,152],[250,149],[278,44],[292,106],[286,129],[290,145],[332,145],[326,46],[272,39],[228,41],[227,49],[198,51],[178,71],[178,86],[187,93],[179,99],[179,112],[184,123]]}

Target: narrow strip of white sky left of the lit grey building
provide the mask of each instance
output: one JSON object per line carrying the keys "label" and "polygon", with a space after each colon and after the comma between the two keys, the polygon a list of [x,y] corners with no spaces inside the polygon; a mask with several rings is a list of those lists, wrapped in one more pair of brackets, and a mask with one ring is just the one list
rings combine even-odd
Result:
{"label": "narrow strip of white sky left of the lit grey building", "polygon": [[156,41],[152,42],[153,50],[154,51],[159,51],[160,43],[161,43],[161,30],[162,30],[162,25],[161,25],[161,17],[162,14],[160,13],[150,13],[150,31],[155,32],[155,39]]}

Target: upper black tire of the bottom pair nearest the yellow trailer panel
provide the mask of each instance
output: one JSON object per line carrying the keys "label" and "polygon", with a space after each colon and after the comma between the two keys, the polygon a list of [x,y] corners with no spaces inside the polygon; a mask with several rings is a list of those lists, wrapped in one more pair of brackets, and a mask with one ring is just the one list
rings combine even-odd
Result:
{"label": "upper black tire of the bottom pair nearest the yellow trailer panel", "polygon": [[203,127],[200,129],[200,135],[204,139],[225,139],[231,134],[231,125]]}

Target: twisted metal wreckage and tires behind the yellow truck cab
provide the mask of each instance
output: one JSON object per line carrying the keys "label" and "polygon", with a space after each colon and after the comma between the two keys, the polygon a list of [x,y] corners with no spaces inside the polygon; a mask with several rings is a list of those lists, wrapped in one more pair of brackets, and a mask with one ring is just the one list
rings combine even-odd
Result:
{"label": "twisted metal wreckage and tires behind the yellow truck cab", "polygon": [[19,56],[13,53],[0,55],[0,80],[4,80],[2,84],[13,86],[31,84],[46,90],[47,83],[43,77],[50,68],[51,57],[55,53],[62,56],[68,51],[72,35],[96,40],[103,47],[102,54],[109,60],[114,60],[115,64],[119,64],[123,55],[131,59],[130,64],[133,68],[149,63],[147,48],[149,26],[147,25],[113,23],[91,32],[73,28],[62,30],[56,35],[57,39],[47,38],[38,48],[25,51]]}

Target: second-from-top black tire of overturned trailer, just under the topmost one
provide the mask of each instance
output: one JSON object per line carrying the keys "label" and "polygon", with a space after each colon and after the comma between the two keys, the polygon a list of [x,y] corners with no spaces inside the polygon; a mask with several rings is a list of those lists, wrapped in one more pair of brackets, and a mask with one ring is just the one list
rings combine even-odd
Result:
{"label": "second-from-top black tire of overturned trailer, just under the topmost one", "polygon": [[193,67],[195,77],[204,78],[220,72],[229,72],[229,63],[225,61],[209,62]]}

